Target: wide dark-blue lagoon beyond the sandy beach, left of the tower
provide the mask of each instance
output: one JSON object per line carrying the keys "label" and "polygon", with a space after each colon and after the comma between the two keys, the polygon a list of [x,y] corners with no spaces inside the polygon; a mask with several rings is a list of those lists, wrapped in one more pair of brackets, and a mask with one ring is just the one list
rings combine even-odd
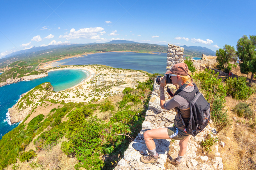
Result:
{"label": "wide dark-blue lagoon beyond the sandy beach, left of the tower", "polygon": [[96,53],[82,57],[68,58],[53,65],[82,65],[82,64],[103,64],[114,68],[144,70],[149,73],[166,72],[167,53],[146,54],[146,53]]}

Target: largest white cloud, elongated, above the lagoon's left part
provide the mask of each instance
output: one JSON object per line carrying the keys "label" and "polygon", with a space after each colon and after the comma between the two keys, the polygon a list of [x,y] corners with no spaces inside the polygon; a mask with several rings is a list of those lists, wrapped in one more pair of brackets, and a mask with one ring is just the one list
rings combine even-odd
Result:
{"label": "largest white cloud, elongated, above the lagoon's left part", "polygon": [[[66,38],[67,40],[76,39],[76,38],[90,38],[92,36],[98,35],[99,32],[103,31],[104,28],[101,27],[94,27],[94,28],[82,28],[78,31],[76,31],[74,28],[70,30],[70,33],[68,35],[62,36],[63,38]],[[60,37],[59,37],[60,38]]]}

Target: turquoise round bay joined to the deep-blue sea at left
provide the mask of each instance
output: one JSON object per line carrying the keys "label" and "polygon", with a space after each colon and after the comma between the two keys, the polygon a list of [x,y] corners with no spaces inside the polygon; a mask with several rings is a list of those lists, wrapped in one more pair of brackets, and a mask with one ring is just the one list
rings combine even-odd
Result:
{"label": "turquoise round bay joined to the deep-blue sea at left", "polygon": [[21,98],[22,93],[28,92],[44,82],[50,82],[53,90],[57,92],[77,85],[88,77],[89,72],[86,70],[56,70],[48,72],[48,76],[44,78],[21,81],[0,87],[0,139],[5,133],[19,125],[19,123],[11,124],[8,108],[11,108]]}

